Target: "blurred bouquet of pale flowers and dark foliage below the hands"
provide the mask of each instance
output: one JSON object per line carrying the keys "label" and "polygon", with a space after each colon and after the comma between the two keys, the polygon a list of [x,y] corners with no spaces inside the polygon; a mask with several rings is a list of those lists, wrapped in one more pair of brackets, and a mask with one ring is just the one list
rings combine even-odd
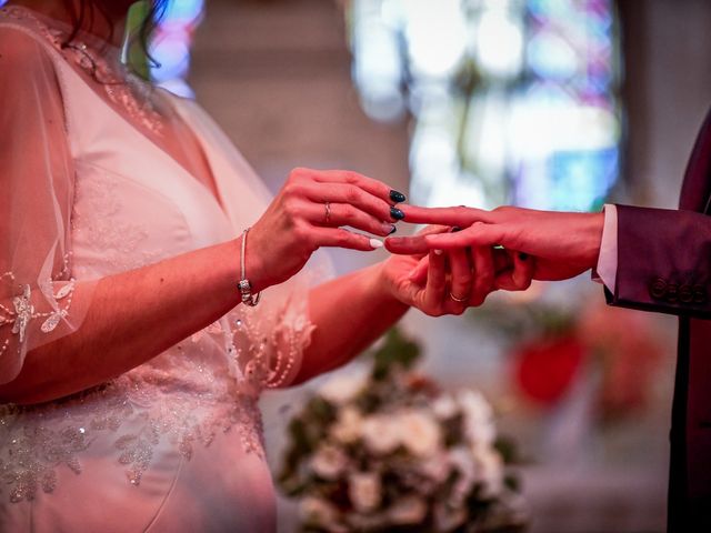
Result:
{"label": "blurred bouquet of pale flowers and dark foliage below the hands", "polygon": [[301,531],[523,531],[490,405],[440,391],[418,358],[393,330],[369,372],[333,378],[291,420],[279,484],[300,497]]}

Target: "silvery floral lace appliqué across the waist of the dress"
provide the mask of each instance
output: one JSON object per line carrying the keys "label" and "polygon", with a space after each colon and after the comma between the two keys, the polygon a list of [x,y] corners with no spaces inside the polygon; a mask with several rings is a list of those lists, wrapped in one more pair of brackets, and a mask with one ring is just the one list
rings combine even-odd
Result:
{"label": "silvery floral lace appliqu\u00e9 across the waist of the dress", "polygon": [[158,381],[150,373],[129,373],[52,404],[0,406],[0,479],[10,501],[32,501],[40,490],[51,493],[58,469],[82,473],[81,453],[98,439],[112,442],[117,465],[137,486],[162,443],[189,460],[194,443],[208,446],[218,431],[237,426],[244,451],[263,456],[258,398],[196,391],[179,395],[161,391],[174,379]]}

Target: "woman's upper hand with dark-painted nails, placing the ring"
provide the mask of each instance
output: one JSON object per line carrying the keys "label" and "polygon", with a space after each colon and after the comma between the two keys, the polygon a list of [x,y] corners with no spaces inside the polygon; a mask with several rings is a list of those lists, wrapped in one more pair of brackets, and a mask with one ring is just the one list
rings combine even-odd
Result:
{"label": "woman's upper hand with dark-painted nails, placing the ring", "polygon": [[404,197],[384,183],[348,171],[294,169],[247,240],[246,270],[256,291],[281,283],[321,247],[371,251],[387,237]]}

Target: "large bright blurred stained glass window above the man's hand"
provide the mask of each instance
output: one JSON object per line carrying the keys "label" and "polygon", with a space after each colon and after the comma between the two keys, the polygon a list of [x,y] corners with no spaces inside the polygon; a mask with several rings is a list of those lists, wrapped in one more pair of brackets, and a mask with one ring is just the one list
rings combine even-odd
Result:
{"label": "large bright blurred stained glass window above the man's hand", "polygon": [[619,175],[612,0],[353,0],[353,78],[412,117],[411,197],[594,210]]}

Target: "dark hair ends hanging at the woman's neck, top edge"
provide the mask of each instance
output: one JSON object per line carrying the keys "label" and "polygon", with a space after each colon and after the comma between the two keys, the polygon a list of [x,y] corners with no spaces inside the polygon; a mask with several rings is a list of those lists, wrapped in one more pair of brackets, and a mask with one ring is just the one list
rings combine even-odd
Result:
{"label": "dark hair ends hanging at the woman's neck, top edge", "polygon": [[[117,12],[117,2],[112,2],[111,0],[79,0],[78,8],[73,0],[62,1],[72,22],[72,31],[64,42],[66,46],[74,40],[81,28],[87,22],[89,27],[92,27],[94,17],[97,14],[103,17],[103,19],[109,24],[110,33],[107,36],[107,38],[108,40],[111,40],[113,38],[113,26],[116,23],[116,19],[124,14],[121,12]],[[130,39],[138,40],[140,42],[141,48],[146,52],[146,56],[152,63],[156,63],[156,60],[151,57],[148,50],[149,40],[151,38],[151,34],[156,30],[158,22],[166,13],[169,1],[170,0],[150,0],[148,17],[146,17],[146,20],[143,21],[139,30],[134,34],[130,36]]]}

